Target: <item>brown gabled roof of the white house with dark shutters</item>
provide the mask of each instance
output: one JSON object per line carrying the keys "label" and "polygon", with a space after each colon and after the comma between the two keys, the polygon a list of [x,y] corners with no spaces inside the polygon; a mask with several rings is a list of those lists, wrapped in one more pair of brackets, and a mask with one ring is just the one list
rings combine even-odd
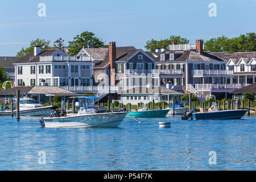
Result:
{"label": "brown gabled roof of the white house with dark shutters", "polygon": [[[52,53],[56,52],[57,50],[60,50],[58,48],[54,49],[42,49],[39,55],[34,56],[34,50],[31,52],[28,52],[26,56],[21,57],[19,60],[15,61],[15,63],[36,63],[40,62],[40,56],[49,56]],[[61,51],[61,50],[60,50]],[[63,51],[61,51],[63,52]]]}

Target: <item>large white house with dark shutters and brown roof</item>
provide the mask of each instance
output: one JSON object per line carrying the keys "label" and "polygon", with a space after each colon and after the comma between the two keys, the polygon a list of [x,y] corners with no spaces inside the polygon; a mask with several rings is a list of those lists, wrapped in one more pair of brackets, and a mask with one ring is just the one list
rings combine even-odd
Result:
{"label": "large white house with dark shutters and brown roof", "polygon": [[20,58],[15,65],[16,86],[89,86],[92,81],[90,57],[68,56],[60,49],[41,49]]}

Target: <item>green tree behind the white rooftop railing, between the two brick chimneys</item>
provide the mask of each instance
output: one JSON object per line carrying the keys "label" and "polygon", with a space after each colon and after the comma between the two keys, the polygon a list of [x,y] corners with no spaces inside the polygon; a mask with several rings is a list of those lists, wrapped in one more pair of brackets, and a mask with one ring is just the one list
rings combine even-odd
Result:
{"label": "green tree behind the white rooftop railing, between the two brick chimneys", "polygon": [[148,40],[146,42],[146,46],[144,46],[148,51],[154,52],[155,49],[158,48],[167,48],[170,46],[172,41],[176,42],[176,44],[188,44],[189,40],[186,38],[181,38],[180,36],[171,35],[170,38],[161,39],[161,40]]}

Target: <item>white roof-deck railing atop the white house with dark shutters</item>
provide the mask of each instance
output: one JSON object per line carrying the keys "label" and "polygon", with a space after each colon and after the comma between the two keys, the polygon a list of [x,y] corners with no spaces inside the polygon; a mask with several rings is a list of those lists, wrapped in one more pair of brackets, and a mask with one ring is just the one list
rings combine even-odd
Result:
{"label": "white roof-deck railing atop the white house with dark shutters", "polygon": [[40,61],[91,61],[90,56],[40,56]]}

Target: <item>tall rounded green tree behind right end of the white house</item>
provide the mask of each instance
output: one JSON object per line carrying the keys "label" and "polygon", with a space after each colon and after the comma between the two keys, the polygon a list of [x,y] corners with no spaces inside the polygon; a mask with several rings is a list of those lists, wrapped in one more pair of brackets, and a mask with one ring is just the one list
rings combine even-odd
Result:
{"label": "tall rounded green tree behind right end of the white house", "polygon": [[75,56],[81,50],[83,46],[92,46],[93,48],[105,47],[104,42],[101,42],[96,36],[94,36],[93,32],[82,32],[80,35],[77,35],[73,41],[69,41],[68,50],[69,55]]}

